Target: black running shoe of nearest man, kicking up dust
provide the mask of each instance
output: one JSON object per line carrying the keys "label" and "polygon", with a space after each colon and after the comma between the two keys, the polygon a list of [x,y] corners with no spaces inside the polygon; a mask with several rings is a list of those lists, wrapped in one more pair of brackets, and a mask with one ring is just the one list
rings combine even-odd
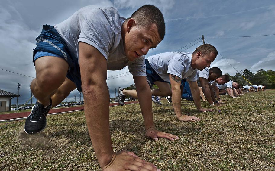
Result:
{"label": "black running shoe of nearest man, kicking up dust", "polygon": [[50,99],[50,105],[46,108],[38,101],[31,109],[31,114],[27,117],[24,131],[27,134],[36,134],[43,131],[47,125],[47,114],[52,108],[52,100]]}

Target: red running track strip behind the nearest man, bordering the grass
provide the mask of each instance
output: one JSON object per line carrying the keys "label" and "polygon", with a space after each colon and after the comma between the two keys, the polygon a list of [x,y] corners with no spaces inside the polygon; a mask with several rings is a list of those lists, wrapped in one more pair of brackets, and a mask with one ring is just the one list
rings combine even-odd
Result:
{"label": "red running track strip behind the nearest man, bordering the grass", "polygon": [[[132,104],[138,103],[138,101],[125,101],[125,104]],[[110,103],[110,106],[118,106],[118,103]],[[49,114],[52,113],[62,113],[62,112],[70,112],[76,110],[84,110],[84,106],[76,106],[76,107],[64,107],[59,109],[51,109]],[[16,119],[16,118],[23,118],[30,115],[30,112],[20,112],[20,113],[7,113],[7,114],[0,114],[0,121],[1,120],[9,120],[9,119]]]}

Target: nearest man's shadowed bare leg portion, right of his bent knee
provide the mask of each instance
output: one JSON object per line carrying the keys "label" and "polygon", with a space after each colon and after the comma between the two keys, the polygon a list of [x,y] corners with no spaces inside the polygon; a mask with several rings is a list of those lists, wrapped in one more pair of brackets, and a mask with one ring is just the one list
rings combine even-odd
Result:
{"label": "nearest man's shadowed bare leg portion, right of his bent knee", "polygon": [[52,106],[55,107],[60,104],[74,89],[76,89],[75,83],[66,78],[63,84],[57,89],[57,92],[52,96]]}

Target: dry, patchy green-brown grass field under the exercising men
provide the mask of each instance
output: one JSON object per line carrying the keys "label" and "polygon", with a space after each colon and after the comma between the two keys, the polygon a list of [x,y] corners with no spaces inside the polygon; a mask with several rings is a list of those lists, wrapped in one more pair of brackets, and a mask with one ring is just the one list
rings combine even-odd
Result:
{"label": "dry, patchy green-brown grass field under the exercising men", "polygon": [[[110,108],[115,151],[133,151],[163,170],[275,170],[275,90],[221,96],[226,105],[197,113],[182,101],[184,113],[202,119],[179,122],[166,100],[154,106],[157,129],[178,141],[144,137],[138,104]],[[204,107],[209,107],[206,102]],[[23,133],[24,120],[0,123],[0,170],[100,170],[84,112],[48,116],[38,135]]]}

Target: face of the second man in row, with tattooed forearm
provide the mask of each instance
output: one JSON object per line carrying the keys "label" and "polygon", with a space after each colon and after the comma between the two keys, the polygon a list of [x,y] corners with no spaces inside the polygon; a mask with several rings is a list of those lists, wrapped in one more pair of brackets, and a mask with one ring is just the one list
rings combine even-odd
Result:
{"label": "face of the second man in row, with tattooed forearm", "polygon": [[[204,55],[201,52],[197,52],[196,54],[196,68],[198,70],[203,70],[205,67],[210,67],[210,64],[215,60],[216,56],[214,53],[210,53],[209,55]],[[215,79],[213,79],[215,80]]]}

